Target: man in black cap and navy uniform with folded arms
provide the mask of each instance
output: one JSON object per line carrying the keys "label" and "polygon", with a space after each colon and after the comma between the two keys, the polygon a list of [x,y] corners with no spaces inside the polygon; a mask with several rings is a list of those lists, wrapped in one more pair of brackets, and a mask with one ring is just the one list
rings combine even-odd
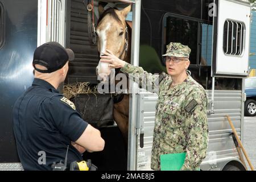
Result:
{"label": "man in black cap and navy uniform with folded arms", "polygon": [[68,165],[81,161],[85,150],[104,148],[100,131],[86,123],[75,105],[57,90],[74,58],[71,49],[56,42],[45,43],[34,52],[34,81],[13,109],[16,146],[24,170],[51,170],[53,162],[64,161],[67,146]]}

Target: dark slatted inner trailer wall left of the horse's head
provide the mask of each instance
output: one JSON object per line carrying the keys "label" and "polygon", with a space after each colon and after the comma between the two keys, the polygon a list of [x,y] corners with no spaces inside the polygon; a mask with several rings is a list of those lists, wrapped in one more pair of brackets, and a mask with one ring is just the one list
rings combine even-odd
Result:
{"label": "dark slatted inner trailer wall left of the horse's head", "polygon": [[96,67],[99,61],[97,43],[93,44],[89,37],[88,11],[83,1],[67,1],[66,46],[75,52],[75,60],[69,63],[65,83],[97,84]]}

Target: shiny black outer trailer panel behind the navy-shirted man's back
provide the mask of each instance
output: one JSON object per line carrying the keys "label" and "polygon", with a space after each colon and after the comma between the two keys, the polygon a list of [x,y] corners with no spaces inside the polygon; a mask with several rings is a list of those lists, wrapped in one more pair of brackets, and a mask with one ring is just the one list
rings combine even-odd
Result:
{"label": "shiny black outer trailer panel behind the navy-shirted man's back", "polygon": [[[38,1],[2,0],[0,49],[0,163],[19,162],[13,134],[13,105],[31,86],[32,58],[37,43]],[[5,11],[5,12],[4,12]],[[11,151],[11,152],[10,152]]]}

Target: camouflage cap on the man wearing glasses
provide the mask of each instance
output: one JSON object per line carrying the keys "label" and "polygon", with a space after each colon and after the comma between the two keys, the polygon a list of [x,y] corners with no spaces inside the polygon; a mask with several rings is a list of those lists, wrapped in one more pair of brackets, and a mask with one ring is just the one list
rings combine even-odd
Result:
{"label": "camouflage cap on the man wearing glasses", "polygon": [[175,56],[175,57],[188,57],[191,49],[188,46],[183,46],[181,43],[171,42],[168,44],[165,55],[162,56]]}

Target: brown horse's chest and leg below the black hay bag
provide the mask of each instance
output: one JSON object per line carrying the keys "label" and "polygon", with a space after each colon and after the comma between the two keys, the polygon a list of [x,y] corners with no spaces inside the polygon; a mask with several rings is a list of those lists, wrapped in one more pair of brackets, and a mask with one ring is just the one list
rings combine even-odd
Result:
{"label": "brown horse's chest and leg below the black hay bag", "polygon": [[123,96],[122,101],[114,104],[114,119],[127,144],[129,127],[129,95]]}

